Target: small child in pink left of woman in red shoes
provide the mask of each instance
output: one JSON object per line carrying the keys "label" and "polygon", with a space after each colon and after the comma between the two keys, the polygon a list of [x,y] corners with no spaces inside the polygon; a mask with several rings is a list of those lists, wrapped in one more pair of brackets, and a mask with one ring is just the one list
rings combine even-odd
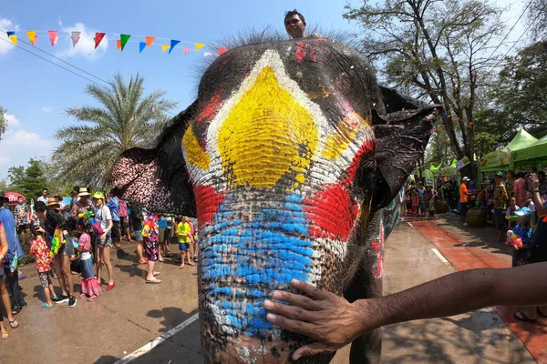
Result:
{"label": "small child in pink left of woman in red shoes", "polygon": [[91,237],[88,234],[89,222],[86,218],[77,219],[77,232],[80,237],[77,240],[77,250],[80,252],[80,268],[82,269],[82,293],[81,298],[88,298],[92,302],[100,297],[100,287],[98,287],[97,277],[93,274],[93,259],[91,258]]}

